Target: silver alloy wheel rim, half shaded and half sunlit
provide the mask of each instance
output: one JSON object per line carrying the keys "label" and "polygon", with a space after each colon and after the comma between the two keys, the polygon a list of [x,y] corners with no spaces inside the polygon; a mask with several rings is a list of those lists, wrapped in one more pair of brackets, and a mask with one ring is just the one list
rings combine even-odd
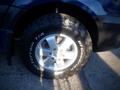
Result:
{"label": "silver alloy wheel rim, half shaded and half sunlit", "polygon": [[70,67],[78,57],[75,41],[65,34],[51,34],[36,45],[35,58],[40,67],[61,71]]}

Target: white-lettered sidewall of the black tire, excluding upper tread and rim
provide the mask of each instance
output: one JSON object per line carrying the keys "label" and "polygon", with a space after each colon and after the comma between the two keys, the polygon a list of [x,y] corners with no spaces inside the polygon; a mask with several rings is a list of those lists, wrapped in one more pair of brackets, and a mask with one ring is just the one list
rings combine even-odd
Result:
{"label": "white-lettered sidewall of the black tire, excluding upper tread and rim", "polygon": [[[28,34],[28,36],[24,39],[24,53],[26,53],[25,56],[25,63],[28,66],[28,69],[30,69],[33,73],[41,76],[45,77],[45,78],[63,78],[63,77],[68,77],[68,75],[73,75],[75,73],[75,71],[78,71],[79,69],[81,69],[81,67],[86,63],[86,60],[88,58],[88,56],[85,56],[86,53],[90,53],[90,50],[88,50],[88,46],[86,45],[86,39],[89,37],[88,32],[86,31],[85,27],[82,26],[79,28],[80,30],[73,30],[73,29],[69,29],[66,28],[64,25],[63,27],[60,27],[59,25],[53,25],[51,27],[51,25],[47,26],[47,27],[39,27],[37,30],[33,30],[29,29],[30,31],[32,31],[31,34]],[[81,30],[83,30],[82,32],[84,32],[85,35],[81,35]],[[54,75],[54,72],[50,71],[50,70],[46,70],[44,68],[42,68],[41,66],[39,66],[36,58],[35,58],[35,47],[37,45],[37,43],[44,38],[45,36],[49,35],[49,34],[55,34],[55,33],[64,33],[68,36],[70,36],[72,39],[74,39],[75,43],[77,44],[77,48],[78,48],[78,52],[79,54],[82,55],[78,55],[78,59],[76,59],[76,61],[68,68],[62,70],[59,72],[58,75]],[[77,34],[76,34],[77,32]],[[90,38],[90,37],[89,37]],[[81,44],[82,44],[82,48],[81,48]],[[82,51],[81,51],[82,50]],[[89,52],[87,52],[87,50]],[[88,54],[89,55],[89,54]],[[86,60],[85,60],[86,59]]]}

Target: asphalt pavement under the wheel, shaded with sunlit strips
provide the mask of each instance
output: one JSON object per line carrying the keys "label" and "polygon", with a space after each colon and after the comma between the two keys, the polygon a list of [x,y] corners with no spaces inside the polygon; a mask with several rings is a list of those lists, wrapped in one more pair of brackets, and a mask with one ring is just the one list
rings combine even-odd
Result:
{"label": "asphalt pavement under the wheel, shaded with sunlit strips", "polygon": [[80,73],[57,80],[33,75],[18,54],[12,65],[0,56],[0,90],[120,90],[120,49],[93,53]]}

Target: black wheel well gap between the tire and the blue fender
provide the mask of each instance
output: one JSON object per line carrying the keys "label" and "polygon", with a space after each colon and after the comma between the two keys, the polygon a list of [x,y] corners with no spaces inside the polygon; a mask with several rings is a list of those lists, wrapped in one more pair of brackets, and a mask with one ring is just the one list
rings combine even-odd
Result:
{"label": "black wheel well gap between the tire and the blue fender", "polygon": [[96,21],[88,12],[78,8],[77,6],[69,4],[45,4],[35,6],[29,10],[25,10],[24,12],[20,13],[20,17],[17,19],[13,26],[15,33],[14,37],[21,37],[24,32],[24,28],[27,27],[27,25],[34,19],[37,19],[47,13],[56,13],[56,8],[58,9],[58,12],[66,13],[77,18],[87,27],[88,32],[92,38],[93,50],[95,50],[98,41],[98,28]]}

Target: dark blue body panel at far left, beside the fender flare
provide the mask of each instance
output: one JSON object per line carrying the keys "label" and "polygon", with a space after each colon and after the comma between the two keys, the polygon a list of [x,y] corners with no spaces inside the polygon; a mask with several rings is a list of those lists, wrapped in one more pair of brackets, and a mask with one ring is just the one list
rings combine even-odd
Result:
{"label": "dark blue body panel at far left, beside the fender flare", "polygon": [[9,30],[2,28],[7,11],[14,0],[0,0],[0,53],[8,51],[10,40]]}

